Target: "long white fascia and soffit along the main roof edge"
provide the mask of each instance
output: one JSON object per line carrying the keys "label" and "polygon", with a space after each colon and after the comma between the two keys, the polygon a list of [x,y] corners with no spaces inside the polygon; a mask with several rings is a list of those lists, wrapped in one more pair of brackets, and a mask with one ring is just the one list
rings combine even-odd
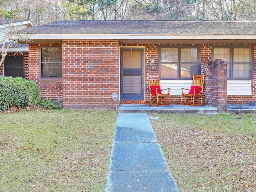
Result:
{"label": "long white fascia and soffit along the main roof edge", "polygon": [[[256,43],[255,34],[34,34],[30,36],[33,43],[62,43],[62,40],[151,40],[159,43]],[[22,42],[20,42],[22,43]]]}

